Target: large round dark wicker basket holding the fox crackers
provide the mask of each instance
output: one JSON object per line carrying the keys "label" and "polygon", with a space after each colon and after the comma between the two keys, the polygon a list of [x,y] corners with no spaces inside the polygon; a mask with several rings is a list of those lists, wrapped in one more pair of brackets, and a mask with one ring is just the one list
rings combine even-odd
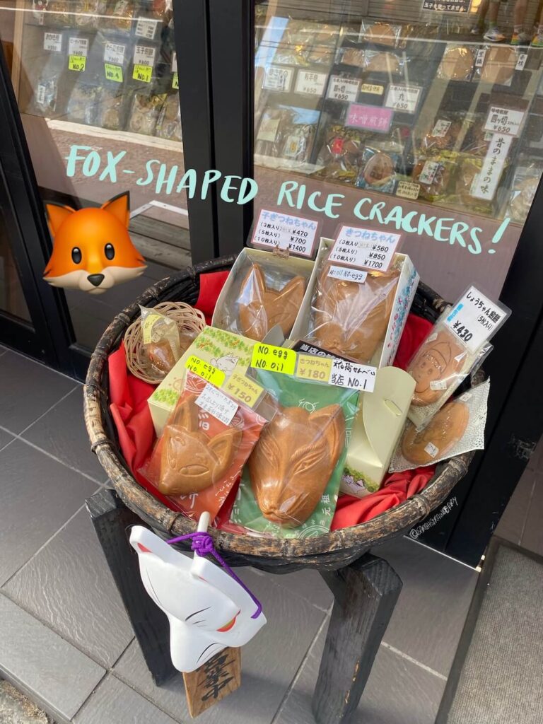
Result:
{"label": "large round dark wicker basket holding the fox crackers", "polygon": [[[130,474],[119,450],[115,427],[109,413],[107,358],[119,347],[132,321],[138,318],[139,304],[155,306],[156,303],[168,300],[182,300],[194,304],[198,298],[200,274],[229,269],[234,258],[232,256],[204,262],[150,287],[134,304],[115,317],[90,359],[84,400],[85,422],[91,449],[96,452],[125,505],[163,536],[173,537],[193,532],[195,523],[181,513],[166,508],[140,487]],[[434,321],[445,306],[445,301],[429,287],[422,284],[418,286],[413,311]],[[322,570],[342,568],[376,544],[405,533],[437,508],[466,474],[472,458],[473,452],[467,452],[439,464],[437,473],[423,492],[371,521],[352,528],[308,539],[267,539],[217,530],[210,532],[217,550],[222,552],[231,565],[254,565],[272,573],[286,573],[305,567]]]}

